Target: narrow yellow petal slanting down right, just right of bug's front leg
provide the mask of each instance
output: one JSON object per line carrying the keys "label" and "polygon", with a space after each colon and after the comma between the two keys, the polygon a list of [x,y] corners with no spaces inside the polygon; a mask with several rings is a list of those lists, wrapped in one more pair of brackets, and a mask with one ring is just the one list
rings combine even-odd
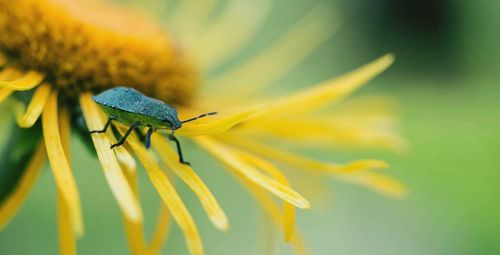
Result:
{"label": "narrow yellow petal slanting down right, just right of bug's front leg", "polygon": [[208,137],[197,137],[195,141],[235,173],[261,186],[279,198],[302,209],[310,208],[309,202],[300,194],[275,179],[262,174],[254,167],[242,162],[229,148]]}

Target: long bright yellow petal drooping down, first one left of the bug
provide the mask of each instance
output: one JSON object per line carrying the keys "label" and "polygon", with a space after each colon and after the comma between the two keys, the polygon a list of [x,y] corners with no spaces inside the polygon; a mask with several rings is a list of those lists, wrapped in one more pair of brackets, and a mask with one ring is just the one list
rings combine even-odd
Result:
{"label": "long bright yellow petal drooping down, first one left of the bug", "polygon": [[42,114],[42,125],[47,155],[57,188],[61,190],[64,201],[70,208],[73,229],[77,236],[81,236],[83,234],[83,219],[80,195],[61,142],[57,112],[57,92],[52,93],[47,101]]}

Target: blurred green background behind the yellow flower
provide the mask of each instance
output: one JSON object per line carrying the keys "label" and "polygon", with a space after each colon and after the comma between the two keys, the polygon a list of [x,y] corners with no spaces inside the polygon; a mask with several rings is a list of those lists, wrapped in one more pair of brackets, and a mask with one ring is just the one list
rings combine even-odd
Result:
{"label": "blurred green background behind the yellow flower", "polygon": [[[312,5],[311,1],[275,2],[263,36],[250,49],[258,48]],[[279,82],[291,88],[309,85],[394,52],[396,64],[356,95],[382,94],[398,102],[409,150],[404,154],[340,150],[334,160],[384,159],[392,166],[384,171],[407,184],[409,195],[394,200],[329,182],[319,210],[299,213],[300,230],[311,253],[498,254],[500,2],[338,0],[327,4],[340,15],[340,29]],[[1,130],[6,127],[3,123]],[[79,252],[127,254],[121,216],[97,160],[77,139],[73,151],[86,223]],[[199,224],[206,253],[265,254],[266,243],[258,235],[268,223],[251,197],[199,149],[189,146],[186,153],[195,165],[206,165],[198,172],[231,221],[227,234],[214,230],[194,195],[179,185]],[[147,232],[151,232],[158,197],[144,172],[139,172],[149,217]],[[55,217],[54,183],[51,173],[44,171],[20,214],[0,233],[0,253],[57,253]],[[275,241],[280,242],[281,236],[275,235]],[[289,248],[281,248],[275,253],[289,254]],[[164,254],[186,254],[176,227]]]}

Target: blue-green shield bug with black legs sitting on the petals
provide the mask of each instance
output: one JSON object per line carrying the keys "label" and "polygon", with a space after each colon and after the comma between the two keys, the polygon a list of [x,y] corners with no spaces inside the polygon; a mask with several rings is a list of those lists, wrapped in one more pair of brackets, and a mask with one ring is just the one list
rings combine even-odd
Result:
{"label": "blue-green shield bug with black legs sitting on the petals", "polygon": [[153,132],[158,129],[168,129],[172,131],[168,138],[177,147],[179,162],[186,165],[189,165],[189,162],[184,161],[181,144],[174,135],[175,130],[181,128],[184,123],[217,114],[217,112],[209,112],[185,121],[180,121],[177,110],[172,106],[127,87],[116,87],[105,90],[93,96],[92,99],[109,115],[109,119],[102,130],[90,131],[91,134],[106,132],[113,121],[118,121],[129,126],[127,132],[125,132],[118,143],[111,146],[111,149],[123,145],[130,133],[137,128],[148,128],[145,146],[149,149]]}

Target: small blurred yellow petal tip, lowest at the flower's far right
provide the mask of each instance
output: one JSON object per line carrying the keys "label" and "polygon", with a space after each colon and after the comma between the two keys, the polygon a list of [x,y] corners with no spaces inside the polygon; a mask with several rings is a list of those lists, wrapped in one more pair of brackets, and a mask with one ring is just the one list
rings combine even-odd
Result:
{"label": "small blurred yellow petal tip, lowest at the flower's far right", "polygon": [[340,178],[343,181],[362,185],[392,197],[401,198],[406,196],[407,189],[404,184],[397,180],[379,173],[360,173],[356,175],[345,175]]}

